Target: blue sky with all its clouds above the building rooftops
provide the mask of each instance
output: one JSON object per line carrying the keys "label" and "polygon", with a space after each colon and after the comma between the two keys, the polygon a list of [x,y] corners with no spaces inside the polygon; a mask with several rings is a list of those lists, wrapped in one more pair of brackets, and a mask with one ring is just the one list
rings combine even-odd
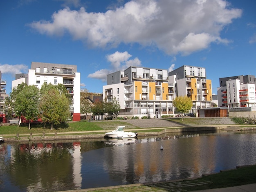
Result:
{"label": "blue sky with all its clouds above the building rooftops", "polygon": [[129,66],[205,67],[256,75],[255,0],[1,0],[0,70],[7,93],[31,62],[77,65],[81,89],[102,93]]}

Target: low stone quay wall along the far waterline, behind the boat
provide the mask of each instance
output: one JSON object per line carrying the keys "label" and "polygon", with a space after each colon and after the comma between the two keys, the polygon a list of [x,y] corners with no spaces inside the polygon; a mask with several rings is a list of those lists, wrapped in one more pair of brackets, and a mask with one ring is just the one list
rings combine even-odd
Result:
{"label": "low stone quay wall along the far waterline, behind the boat", "polygon": [[[215,126],[190,126],[190,127],[160,127],[160,128],[142,128],[128,129],[132,132],[137,132],[140,136],[161,136],[166,134],[175,134],[182,132],[203,132],[203,131],[245,131],[256,130],[256,127],[240,127],[237,125],[215,125]],[[42,134],[16,134],[2,135],[4,142],[21,142],[21,141],[59,141],[59,140],[80,140],[89,138],[105,138],[107,137],[102,130],[83,131],[83,132],[55,132]]]}

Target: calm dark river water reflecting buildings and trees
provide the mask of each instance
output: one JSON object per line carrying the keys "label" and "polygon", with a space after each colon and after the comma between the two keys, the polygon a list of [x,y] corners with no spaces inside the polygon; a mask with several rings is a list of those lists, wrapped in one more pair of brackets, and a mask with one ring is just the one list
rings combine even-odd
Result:
{"label": "calm dark river water reflecting buildings and trees", "polygon": [[0,191],[50,192],[168,181],[255,163],[255,131],[1,143]]}

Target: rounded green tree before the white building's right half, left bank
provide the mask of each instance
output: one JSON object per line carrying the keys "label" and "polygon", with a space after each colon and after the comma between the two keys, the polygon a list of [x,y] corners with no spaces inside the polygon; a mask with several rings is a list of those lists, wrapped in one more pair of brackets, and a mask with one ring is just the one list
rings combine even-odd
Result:
{"label": "rounded green tree before the white building's right half, left bank", "polygon": [[39,109],[42,121],[51,123],[51,129],[53,129],[53,125],[67,121],[70,116],[70,101],[56,87],[50,86],[48,88],[44,88],[45,91],[41,95]]}

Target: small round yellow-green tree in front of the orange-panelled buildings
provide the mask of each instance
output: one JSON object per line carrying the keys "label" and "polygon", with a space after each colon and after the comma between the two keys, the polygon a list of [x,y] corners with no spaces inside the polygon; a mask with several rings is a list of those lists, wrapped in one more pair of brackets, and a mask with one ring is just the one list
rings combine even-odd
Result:
{"label": "small round yellow-green tree in front of the orange-panelled buildings", "polygon": [[193,106],[193,102],[190,97],[187,96],[178,96],[173,100],[173,106],[176,107],[178,112],[182,113],[182,121],[184,113],[189,112]]}

